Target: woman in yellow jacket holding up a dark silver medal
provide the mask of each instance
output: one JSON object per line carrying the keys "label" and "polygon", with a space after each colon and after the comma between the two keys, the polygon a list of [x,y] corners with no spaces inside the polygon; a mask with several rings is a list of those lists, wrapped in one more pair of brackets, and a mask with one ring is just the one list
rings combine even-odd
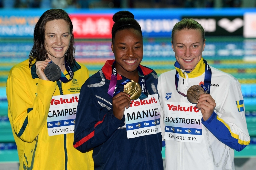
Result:
{"label": "woman in yellow jacket holding up a dark silver medal", "polygon": [[35,26],[29,59],[10,70],[8,117],[20,170],[93,169],[92,151],[82,154],[72,146],[79,92],[89,77],[75,61],[72,29],[66,11],[46,11]]}

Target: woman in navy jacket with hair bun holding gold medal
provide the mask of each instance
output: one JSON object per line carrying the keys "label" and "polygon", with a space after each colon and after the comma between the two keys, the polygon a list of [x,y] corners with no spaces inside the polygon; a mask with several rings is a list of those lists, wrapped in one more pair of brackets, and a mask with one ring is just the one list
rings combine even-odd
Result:
{"label": "woman in navy jacket with hair bun holding gold medal", "polygon": [[74,147],[93,149],[94,169],[163,169],[157,74],[140,65],[141,27],[129,11],[113,16],[115,60],[82,86]]}

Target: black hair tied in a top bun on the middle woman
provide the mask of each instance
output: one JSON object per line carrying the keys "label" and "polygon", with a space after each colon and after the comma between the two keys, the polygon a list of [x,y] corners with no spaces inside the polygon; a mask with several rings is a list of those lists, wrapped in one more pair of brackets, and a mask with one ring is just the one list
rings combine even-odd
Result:
{"label": "black hair tied in a top bun on the middle woman", "polygon": [[113,21],[115,22],[112,27],[112,41],[115,38],[117,31],[125,29],[134,29],[140,32],[142,37],[142,31],[140,24],[134,19],[134,15],[129,11],[119,11],[113,15]]}

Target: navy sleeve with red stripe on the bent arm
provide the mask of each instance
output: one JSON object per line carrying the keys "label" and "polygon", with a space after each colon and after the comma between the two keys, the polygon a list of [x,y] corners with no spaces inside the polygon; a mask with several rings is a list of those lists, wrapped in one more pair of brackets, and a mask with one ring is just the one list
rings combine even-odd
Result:
{"label": "navy sleeve with red stripe on the bent arm", "polygon": [[110,107],[101,107],[93,91],[83,84],[77,107],[73,146],[81,152],[106,142],[124,122]]}

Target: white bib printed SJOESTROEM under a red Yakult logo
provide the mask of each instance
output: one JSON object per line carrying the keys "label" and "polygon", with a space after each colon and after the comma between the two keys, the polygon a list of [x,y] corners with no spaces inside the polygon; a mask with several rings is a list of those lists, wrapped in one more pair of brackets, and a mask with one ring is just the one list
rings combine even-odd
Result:
{"label": "white bib printed SJOESTROEM under a red Yakult logo", "polygon": [[195,104],[165,102],[164,112],[165,140],[201,143],[202,114]]}

